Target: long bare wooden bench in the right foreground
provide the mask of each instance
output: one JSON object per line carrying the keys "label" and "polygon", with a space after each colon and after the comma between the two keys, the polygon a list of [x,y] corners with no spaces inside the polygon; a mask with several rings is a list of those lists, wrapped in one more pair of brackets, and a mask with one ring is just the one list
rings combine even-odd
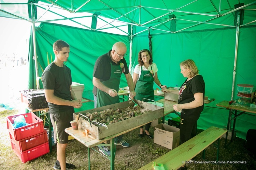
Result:
{"label": "long bare wooden bench in the right foreground", "polygon": [[166,170],[171,169],[179,169],[183,166],[186,161],[194,158],[200,152],[203,151],[203,158],[205,158],[205,148],[210,146],[213,142],[218,140],[217,142],[217,161],[218,161],[218,153],[219,153],[219,139],[223,134],[227,132],[226,129],[216,128],[211,126],[207,130],[199,133],[195,137],[189,139],[182,145],[174,148],[170,152],[160,156],[159,158],[153,160],[147,165],[143,166],[139,170],[150,170],[153,169],[153,163],[160,163],[164,165]]}

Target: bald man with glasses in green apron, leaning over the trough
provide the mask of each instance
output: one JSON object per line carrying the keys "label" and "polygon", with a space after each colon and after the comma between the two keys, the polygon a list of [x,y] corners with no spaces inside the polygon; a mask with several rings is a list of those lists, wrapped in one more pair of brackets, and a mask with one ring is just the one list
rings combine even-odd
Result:
{"label": "bald man with glasses in green apron, leaning over the trough", "polygon": [[[120,102],[118,89],[122,73],[125,74],[127,85],[130,89],[130,97],[133,99],[136,95],[133,80],[124,59],[127,55],[126,51],[126,45],[123,42],[117,42],[113,45],[112,50],[101,55],[95,62],[93,72],[95,108]],[[118,136],[115,139],[116,145],[120,145],[125,148],[130,147],[129,143],[123,140],[122,136],[123,135]],[[110,150],[108,147],[99,147],[99,151],[104,155],[110,156]]]}

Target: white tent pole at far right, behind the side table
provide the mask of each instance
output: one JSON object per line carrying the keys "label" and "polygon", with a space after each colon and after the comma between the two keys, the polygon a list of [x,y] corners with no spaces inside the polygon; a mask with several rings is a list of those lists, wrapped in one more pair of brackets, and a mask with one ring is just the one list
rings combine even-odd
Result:
{"label": "white tent pole at far right, behind the side table", "polygon": [[234,95],[234,83],[235,83],[235,77],[236,77],[237,48],[238,48],[239,28],[240,28],[240,12],[237,13],[236,48],[235,48],[235,57],[234,57],[234,69],[233,69],[233,83],[232,83],[231,100],[233,100],[233,95]]}

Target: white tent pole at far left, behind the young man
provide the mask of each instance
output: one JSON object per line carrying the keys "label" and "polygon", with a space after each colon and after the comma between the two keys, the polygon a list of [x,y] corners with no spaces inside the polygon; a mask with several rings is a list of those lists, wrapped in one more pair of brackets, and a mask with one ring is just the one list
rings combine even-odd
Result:
{"label": "white tent pole at far left, behind the young man", "polygon": [[[33,47],[34,47],[34,60],[35,60],[35,75],[36,79],[39,77],[38,75],[38,65],[37,65],[37,48],[35,47],[35,17],[34,17],[34,8],[33,3],[30,3],[31,6],[31,19],[32,19],[32,37],[33,37]],[[39,83],[37,84],[37,89],[39,89]]]}

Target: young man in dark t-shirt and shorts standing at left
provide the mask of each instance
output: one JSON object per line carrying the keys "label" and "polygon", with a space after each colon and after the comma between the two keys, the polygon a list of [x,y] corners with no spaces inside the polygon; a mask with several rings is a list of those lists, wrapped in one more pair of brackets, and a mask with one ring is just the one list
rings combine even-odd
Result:
{"label": "young man in dark t-shirt and shorts standing at left", "polygon": [[70,46],[63,40],[57,40],[53,44],[55,60],[49,64],[43,74],[45,98],[49,105],[49,114],[54,131],[54,140],[57,143],[57,160],[54,169],[75,169],[73,164],[66,163],[66,147],[70,121],[73,120],[74,107],[82,106],[81,100],[77,100],[72,90],[71,71],[64,65],[68,60]]}

